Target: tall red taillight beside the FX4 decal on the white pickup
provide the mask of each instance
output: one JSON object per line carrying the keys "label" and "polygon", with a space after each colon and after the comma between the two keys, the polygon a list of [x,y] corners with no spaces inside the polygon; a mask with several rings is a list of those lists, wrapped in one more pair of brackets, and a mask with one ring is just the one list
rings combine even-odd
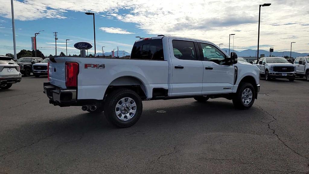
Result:
{"label": "tall red taillight beside the FX4 decal on the white pickup", "polygon": [[66,87],[77,87],[79,65],[76,62],[66,62]]}

